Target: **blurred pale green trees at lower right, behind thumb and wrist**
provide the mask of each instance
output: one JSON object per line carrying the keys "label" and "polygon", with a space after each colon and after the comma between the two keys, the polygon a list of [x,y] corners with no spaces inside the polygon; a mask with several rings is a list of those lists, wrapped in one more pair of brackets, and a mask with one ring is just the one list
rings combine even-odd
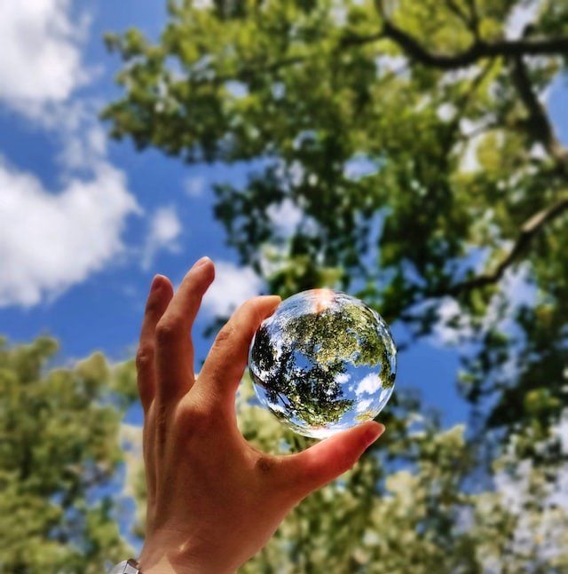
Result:
{"label": "blurred pale green trees at lower right, behind thumb and wrist", "polygon": [[[268,411],[251,406],[252,396],[245,377],[237,413],[249,441],[267,452],[298,451],[310,443]],[[551,481],[546,469],[520,460],[509,448],[493,461],[495,488],[486,481],[463,489],[475,468],[463,426],[442,431],[416,401],[397,397],[387,421],[386,450],[382,444],[340,480],[304,499],[242,574],[564,572],[568,514],[558,502],[568,467],[564,479]],[[392,460],[397,461],[394,471]],[[133,460],[132,476],[143,531],[140,462],[140,456]]]}

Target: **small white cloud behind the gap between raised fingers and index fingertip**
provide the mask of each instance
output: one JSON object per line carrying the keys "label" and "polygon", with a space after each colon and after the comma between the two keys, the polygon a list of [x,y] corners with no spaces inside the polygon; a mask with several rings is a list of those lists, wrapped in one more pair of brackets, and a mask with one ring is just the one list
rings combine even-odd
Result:
{"label": "small white cloud behind the gap between raised fingers and index fingertip", "polygon": [[219,261],[215,269],[215,280],[203,297],[203,308],[211,315],[230,315],[241,303],[258,295],[263,287],[262,279],[249,267]]}

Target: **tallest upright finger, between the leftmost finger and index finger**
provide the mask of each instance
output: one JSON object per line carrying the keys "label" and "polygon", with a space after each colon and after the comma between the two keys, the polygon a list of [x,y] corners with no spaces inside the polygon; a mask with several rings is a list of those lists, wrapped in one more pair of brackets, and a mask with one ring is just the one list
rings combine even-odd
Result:
{"label": "tallest upright finger, between the leftmost finger and index finger", "polygon": [[201,298],[215,277],[209,257],[202,257],[187,272],[168,309],[156,326],[156,369],[160,384],[156,397],[162,402],[183,396],[193,384],[191,329]]}

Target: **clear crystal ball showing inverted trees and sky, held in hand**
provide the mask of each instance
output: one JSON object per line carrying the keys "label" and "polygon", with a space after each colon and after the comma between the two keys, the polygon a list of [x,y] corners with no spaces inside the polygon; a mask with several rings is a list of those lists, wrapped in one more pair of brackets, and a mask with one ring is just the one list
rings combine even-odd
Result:
{"label": "clear crystal ball showing inverted trees and sky, held in hand", "polygon": [[350,295],[311,289],[264,319],[248,368],[261,405],[296,433],[323,438],[383,410],[396,357],[376,311]]}

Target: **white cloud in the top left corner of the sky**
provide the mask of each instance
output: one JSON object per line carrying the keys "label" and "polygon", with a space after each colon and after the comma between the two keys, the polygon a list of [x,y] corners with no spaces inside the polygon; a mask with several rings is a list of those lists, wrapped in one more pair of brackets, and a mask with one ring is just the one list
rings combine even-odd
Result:
{"label": "white cloud in the top left corner of the sky", "polygon": [[20,113],[61,102],[91,75],[81,58],[87,20],[69,0],[0,0],[0,100]]}

